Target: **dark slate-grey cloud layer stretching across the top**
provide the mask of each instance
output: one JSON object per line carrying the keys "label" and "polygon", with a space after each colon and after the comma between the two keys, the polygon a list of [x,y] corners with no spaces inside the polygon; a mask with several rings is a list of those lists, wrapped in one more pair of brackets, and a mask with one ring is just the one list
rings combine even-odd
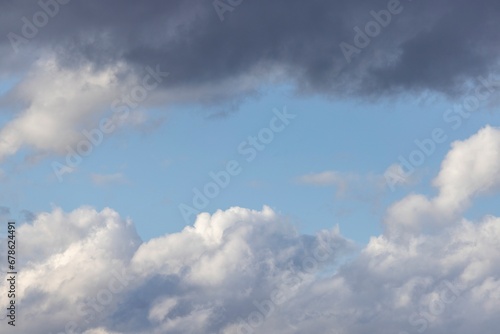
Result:
{"label": "dark slate-grey cloud layer stretching across the top", "polygon": [[[66,66],[124,61],[139,71],[160,64],[171,73],[166,88],[210,86],[192,100],[212,102],[270,81],[326,95],[453,94],[467,80],[497,70],[500,3],[493,0],[402,1],[401,12],[349,63],[340,43],[355,46],[353,28],[364,30],[374,20],[370,12],[388,3],[243,0],[221,21],[212,1],[73,0],[19,53],[53,50]],[[20,18],[40,10],[13,1],[1,6],[4,36],[21,34]]]}

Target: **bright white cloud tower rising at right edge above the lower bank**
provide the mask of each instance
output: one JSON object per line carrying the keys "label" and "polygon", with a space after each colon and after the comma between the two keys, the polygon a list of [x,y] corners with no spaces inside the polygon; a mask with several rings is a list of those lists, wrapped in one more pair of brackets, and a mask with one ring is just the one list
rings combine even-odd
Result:
{"label": "bright white cloud tower rising at right edge above the lower bank", "polygon": [[394,233],[452,224],[471,201],[500,186],[500,130],[486,126],[464,141],[456,141],[433,184],[433,198],[411,194],[393,204],[385,224]]}

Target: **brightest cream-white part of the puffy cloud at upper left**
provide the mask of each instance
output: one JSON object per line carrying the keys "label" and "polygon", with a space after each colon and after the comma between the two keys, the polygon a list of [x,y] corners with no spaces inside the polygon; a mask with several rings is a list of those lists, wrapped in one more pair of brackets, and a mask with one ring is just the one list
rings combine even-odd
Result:
{"label": "brightest cream-white part of the puffy cloud at upper left", "polygon": [[0,160],[25,146],[36,154],[70,151],[109,109],[119,71],[115,65],[95,72],[91,64],[63,69],[51,56],[40,59],[9,93],[25,107],[0,131]]}

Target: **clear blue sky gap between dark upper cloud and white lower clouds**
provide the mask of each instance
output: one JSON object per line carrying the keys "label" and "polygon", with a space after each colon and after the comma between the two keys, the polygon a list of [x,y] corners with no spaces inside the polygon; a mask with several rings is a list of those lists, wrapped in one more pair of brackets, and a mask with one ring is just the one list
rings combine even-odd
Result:
{"label": "clear blue sky gap between dark upper cloud and white lower clouds", "polygon": [[[158,118],[160,125],[153,130],[107,137],[61,183],[54,178],[50,163],[62,158],[22,166],[20,154],[14,159],[18,162],[6,169],[11,177],[5,206],[13,208],[18,217],[22,210],[36,213],[53,206],[66,211],[82,204],[101,209],[109,206],[137,222],[139,234],[149,240],[192,224],[195,217],[185,221],[179,205],[191,205],[193,188],[202,189],[210,181],[211,171],[221,171],[228,161],[237,160],[243,172],[232,177],[228,187],[201,211],[269,205],[287,215],[303,233],[338,224],[344,235],[363,244],[382,231],[382,213],[397,198],[415,191],[433,192],[429,181],[436,176],[452,141],[467,138],[498,118],[482,107],[453,130],[443,120],[452,103],[437,95],[427,97],[427,101],[425,97],[377,103],[335,101],[298,97],[282,87],[247,99],[238,112],[224,117],[211,116],[217,107],[172,107],[166,117]],[[255,160],[247,162],[238,153],[238,145],[268,126],[276,108],[286,108],[296,118],[258,152]],[[153,120],[163,115],[160,109],[145,111]],[[448,139],[417,168],[418,181],[411,185],[391,191],[366,184],[354,189],[355,193],[337,196],[334,185],[310,186],[297,180],[305,174],[331,170],[383,175],[400,155],[408,158],[417,148],[415,139],[429,138],[436,127],[442,128]],[[99,185],[91,181],[93,174],[119,174],[120,180]],[[24,191],[25,187],[30,190]],[[487,208],[496,212],[494,202]],[[475,212],[483,211],[476,208]]]}

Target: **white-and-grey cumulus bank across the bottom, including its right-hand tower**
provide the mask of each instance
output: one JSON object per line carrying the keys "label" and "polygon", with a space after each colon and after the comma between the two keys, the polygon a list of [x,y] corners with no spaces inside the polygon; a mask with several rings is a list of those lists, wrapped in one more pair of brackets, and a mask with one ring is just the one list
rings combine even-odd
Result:
{"label": "white-and-grey cumulus bank across the bottom, including its right-hand tower", "polygon": [[436,196],[395,203],[384,233],[362,249],[338,228],[301,235],[269,207],[203,213],[148,242],[111,209],[39,214],[18,232],[17,326],[86,334],[496,333],[500,218],[463,214],[498,188],[499,147],[492,127],[455,142]]}

